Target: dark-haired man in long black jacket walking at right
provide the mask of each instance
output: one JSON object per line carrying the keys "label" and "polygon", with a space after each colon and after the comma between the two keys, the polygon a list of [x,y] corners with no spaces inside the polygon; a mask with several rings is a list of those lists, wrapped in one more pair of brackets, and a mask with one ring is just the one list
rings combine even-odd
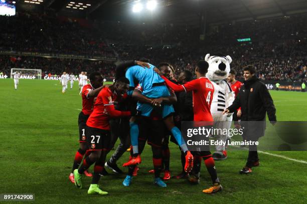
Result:
{"label": "dark-haired man in long black jacket walking at right", "polygon": [[[267,112],[268,119],[274,125],[276,123],[276,109],[267,87],[255,76],[255,68],[247,65],[243,68],[243,71],[244,84],[241,86],[240,92],[232,105],[227,107],[223,114],[234,112],[241,107],[244,138],[257,141],[259,137],[264,135],[265,113]],[[258,165],[257,146],[249,145],[247,162],[243,169],[240,170],[240,173],[250,173],[251,168]]]}

